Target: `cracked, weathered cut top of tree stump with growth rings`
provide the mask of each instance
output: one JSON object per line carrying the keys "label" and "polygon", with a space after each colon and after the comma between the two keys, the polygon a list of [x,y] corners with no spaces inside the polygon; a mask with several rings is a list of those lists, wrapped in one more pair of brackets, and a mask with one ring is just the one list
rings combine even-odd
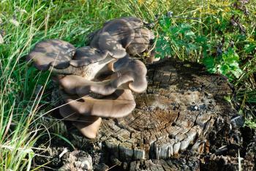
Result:
{"label": "cracked, weathered cut top of tree stump with growth rings", "polygon": [[199,64],[166,59],[148,66],[148,88],[135,94],[125,118],[104,119],[98,142],[121,161],[168,159],[181,151],[207,150],[208,132],[219,115],[236,113],[225,101],[225,77]]}

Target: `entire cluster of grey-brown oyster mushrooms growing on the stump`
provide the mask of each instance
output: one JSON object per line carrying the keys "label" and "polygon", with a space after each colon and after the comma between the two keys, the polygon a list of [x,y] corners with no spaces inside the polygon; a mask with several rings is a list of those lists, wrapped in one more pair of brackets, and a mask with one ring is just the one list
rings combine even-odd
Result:
{"label": "entire cluster of grey-brown oyster mushrooms growing on the stump", "polygon": [[135,108],[132,91],[146,90],[146,66],[132,58],[148,51],[154,34],[139,18],[110,20],[94,32],[89,46],[75,49],[69,42],[38,42],[27,56],[39,70],[57,74],[66,102],[59,108],[89,138],[97,136],[102,118],[120,118]]}

